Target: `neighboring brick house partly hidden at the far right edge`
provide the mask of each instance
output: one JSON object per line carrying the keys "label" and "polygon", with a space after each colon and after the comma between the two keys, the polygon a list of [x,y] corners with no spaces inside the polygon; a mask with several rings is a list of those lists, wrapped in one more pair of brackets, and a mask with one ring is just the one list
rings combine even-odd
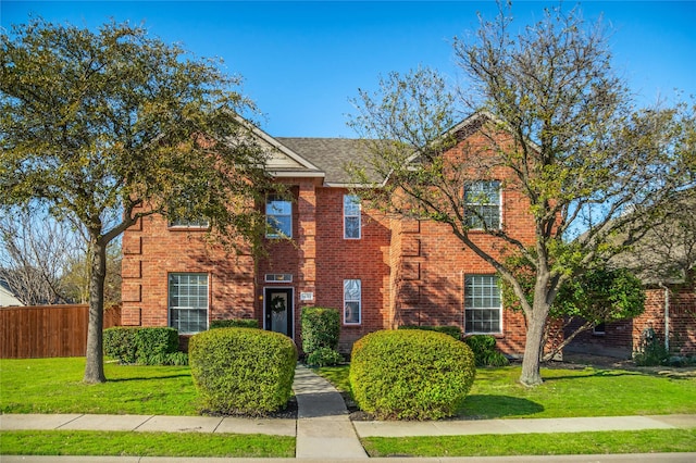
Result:
{"label": "neighboring brick house partly hidden at the far right edge", "polygon": [[579,335],[567,351],[629,359],[651,330],[668,351],[696,355],[695,192],[678,195],[668,217],[652,226],[631,252],[612,260],[643,281],[645,312]]}

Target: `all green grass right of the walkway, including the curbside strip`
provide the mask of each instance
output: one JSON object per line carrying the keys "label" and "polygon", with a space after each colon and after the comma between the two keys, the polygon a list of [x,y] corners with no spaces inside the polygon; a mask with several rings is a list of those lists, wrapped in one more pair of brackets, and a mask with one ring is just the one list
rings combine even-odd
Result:
{"label": "all green grass right of the walkway, including the curbside strip", "polygon": [[[318,373],[349,391],[348,367]],[[519,366],[478,368],[462,420],[622,416],[696,413],[696,376],[649,371],[543,368],[545,383],[526,388]],[[361,439],[370,456],[493,456],[696,452],[696,429],[604,433],[371,437]]]}

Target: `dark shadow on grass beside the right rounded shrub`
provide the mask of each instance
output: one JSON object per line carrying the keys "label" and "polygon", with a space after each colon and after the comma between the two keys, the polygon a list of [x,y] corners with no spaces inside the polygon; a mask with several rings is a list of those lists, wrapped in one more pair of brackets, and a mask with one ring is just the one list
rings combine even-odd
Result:
{"label": "dark shadow on grass beside the right rounded shrub", "polygon": [[463,420],[493,420],[542,413],[544,406],[527,399],[510,396],[471,395],[457,412]]}

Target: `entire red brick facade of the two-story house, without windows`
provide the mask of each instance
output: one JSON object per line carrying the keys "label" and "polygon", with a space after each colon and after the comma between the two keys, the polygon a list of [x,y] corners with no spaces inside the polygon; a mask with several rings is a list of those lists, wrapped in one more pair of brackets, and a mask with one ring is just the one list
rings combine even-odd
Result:
{"label": "entire red brick facade of the two-story house, without windows", "polygon": [[[467,142],[483,146],[485,137]],[[457,148],[447,155],[461,155]],[[485,151],[478,152],[485,155]],[[509,172],[487,171],[504,180]],[[321,305],[341,311],[343,281],[362,283],[362,321],[345,325],[340,349],[376,329],[400,324],[459,325],[463,323],[463,276],[493,274],[493,267],[473,251],[463,249],[442,224],[387,218],[362,212],[362,236],[344,239],[343,188],[328,188],[311,178],[285,178],[295,198],[293,239],[270,240],[268,256],[256,264],[250,255],[227,255],[204,242],[204,232],[175,230],[158,216],[147,217],[124,234],[123,324],[167,324],[167,275],[171,272],[204,272],[210,275],[210,317],[254,317],[263,326],[263,291],[291,287],[295,292],[295,340],[301,345],[300,308]],[[463,186],[463,185],[462,185]],[[533,225],[522,197],[513,189],[502,193],[504,227],[522,242],[532,242]],[[502,242],[472,233],[482,249],[499,254]],[[291,284],[270,284],[266,274],[291,274]],[[312,301],[300,301],[312,292]],[[504,352],[524,350],[524,320],[504,312],[499,346]]]}

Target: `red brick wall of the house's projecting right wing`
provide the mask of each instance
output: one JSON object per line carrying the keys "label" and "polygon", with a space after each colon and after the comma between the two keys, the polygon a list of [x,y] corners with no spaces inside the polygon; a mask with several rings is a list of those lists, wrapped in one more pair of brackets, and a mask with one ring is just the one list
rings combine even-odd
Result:
{"label": "red brick wall of the house's projecting right wing", "polygon": [[[478,133],[470,134],[460,146],[445,155],[453,164],[470,162],[467,157],[475,152],[471,163],[473,176],[508,180],[501,195],[502,227],[517,240],[534,242],[534,223],[529,214],[529,202],[511,186],[512,173],[495,162],[495,154],[486,150],[489,139]],[[464,147],[465,145],[465,147]],[[484,168],[485,167],[485,168]],[[484,173],[478,172],[484,168]],[[480,178],[480,177],[476,177]],[[462,182],[463,188],[463,182]],[[391,259],[394,267],[394,324],[464,326],[464,276],[495,274],[494,267],[480,258],[452,233],[449,225],[434,222],[403,221],[393,227]],[[500,259],[506,243],[482,232],[469,233],[471,240],[483,251]],[[502,333],[497,334],[498,347],[510,355],[524,352],[525,322],[519,312],[504,310]]]}

